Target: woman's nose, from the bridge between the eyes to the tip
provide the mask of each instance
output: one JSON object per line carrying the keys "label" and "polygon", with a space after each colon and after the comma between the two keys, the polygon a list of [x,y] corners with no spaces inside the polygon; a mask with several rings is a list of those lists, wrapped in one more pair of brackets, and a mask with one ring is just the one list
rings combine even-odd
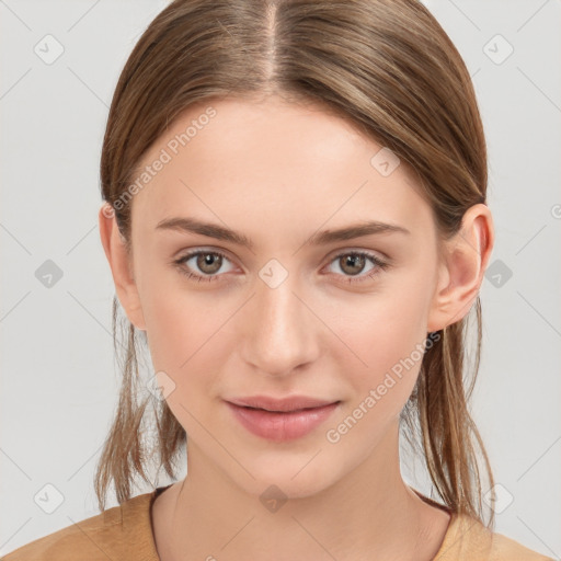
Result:
{"label": "woman's nose, from the bridge between the eyes to the tip", "polygon": [[297,275],[285,272],[275,263],[260,272],[245,342],[245,358],[270,374],[287,374],[312,360],[318,346],[313,314],[301,301]]}

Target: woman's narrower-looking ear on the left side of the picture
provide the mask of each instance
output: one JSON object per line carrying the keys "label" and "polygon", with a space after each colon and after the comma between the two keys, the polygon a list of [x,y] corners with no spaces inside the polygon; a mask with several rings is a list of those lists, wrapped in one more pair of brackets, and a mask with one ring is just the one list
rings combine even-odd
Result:
{"label": "woman's narrower-looking ear on the left side of the picture", "polygon": [[133,260],[127,252],[125,239],[117,227],[115,211],[108,203],[104,203],[100,208],[99,224],[101,242],[110,262],[121,306],[123,306],[130,323],[135,328],[146,331],[140,297],[131,273]]}

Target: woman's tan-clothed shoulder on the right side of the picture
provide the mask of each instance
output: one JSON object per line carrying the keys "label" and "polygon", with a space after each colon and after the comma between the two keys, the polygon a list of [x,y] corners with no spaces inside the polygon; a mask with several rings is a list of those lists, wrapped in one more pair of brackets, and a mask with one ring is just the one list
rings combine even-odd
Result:
{"label": "woman's tan-clothed shoulder on the right side of the picture", "polygon": [[479,520],[454,514],[434,561],[553,561]]}

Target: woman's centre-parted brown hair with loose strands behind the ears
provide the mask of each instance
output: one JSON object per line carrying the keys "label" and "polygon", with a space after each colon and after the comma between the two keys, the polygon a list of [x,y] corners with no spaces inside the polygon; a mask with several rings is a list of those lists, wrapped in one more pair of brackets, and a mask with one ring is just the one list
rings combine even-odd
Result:
{"label": "woman's centre-parted brown hair with loose strands behind the ears", "polygon": [[[102,197],[112,205],[127,248],[131,205],[119,203],[142,157],[169,124],[194,103],[271,94],[340,115],[414,170],[433,209],[439,244],[459,231],[469,207],[486,204],[486,146],[471,78],[420,1],[175,0],[128,57],[103,139]],[[433,334],[400,428],[408,430],[413,447],[415,435],[420,437],[442,504],[484,524],[480,459],[489,488],[494,481],[469,411],[481,353],[479,294],[474,302],[468,314]],[[115,352],[117,308],[115,296]],[[465,360],[473,310],[477,342],[470,369]],[[137,400],[139,334],[127,320],[123,331],[118,405],[95,473],[102,511],[111,482],[119,504],[130,499],[136,474],[149,482],[142,420],[151,396]],[[187,435],[165,400],[159,405],[153,454],[158,469],[174,478],[174,461]]]}

